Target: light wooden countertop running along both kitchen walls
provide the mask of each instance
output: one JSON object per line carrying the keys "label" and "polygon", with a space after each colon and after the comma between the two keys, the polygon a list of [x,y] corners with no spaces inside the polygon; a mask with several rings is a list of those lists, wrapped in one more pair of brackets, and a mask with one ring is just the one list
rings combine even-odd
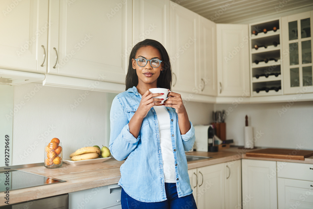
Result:
{"label": "light wooden countertop running along both kitchen walls", "polygon": [[[254,149],[256,150],[256,149]],[[286,161],[295,163],[308,163],[313,164],[313,156],[305,158],[305,160],[284,160],[272,158],[259,158],[259,157],[246,157],[245,149],[238,149],[232,147],[223,149],[216,153],[214,152],[188,152],[187,155],[210,156],[213,158],[202,159],[197,161],[188,162],[188,169],[224,163],[238,159],[259,159],[259,160],[273,160],[273,161]],[[78,165],[72,166],[63,163],[61,168],[47,169],[44,166],[19,169],[29,173],[44,175],[50,178],[65,180],[66,182],[43,185],[19,190],[9,191],[10,204],[31,201],[39,198],[66,194],[69,192],[91,189],[95,187],[117,184],[120,180],[120,166],[124,161],[117,161],[109,159],[103,163]],[[6,205],[4,203],[4,193],[0,195],[0,206]]]}

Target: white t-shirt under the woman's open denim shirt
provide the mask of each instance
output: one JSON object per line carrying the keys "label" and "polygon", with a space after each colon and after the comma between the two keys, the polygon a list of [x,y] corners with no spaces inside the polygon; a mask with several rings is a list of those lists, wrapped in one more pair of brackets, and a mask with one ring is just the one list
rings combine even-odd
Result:
{"label": "white t-shirt under the woman's open denim shirt", "polygon": [[163,159],[164,182],[176,183],[175,160],[170,131],[170,115],[165,106],[154,106],[159,123],[161,153]]}

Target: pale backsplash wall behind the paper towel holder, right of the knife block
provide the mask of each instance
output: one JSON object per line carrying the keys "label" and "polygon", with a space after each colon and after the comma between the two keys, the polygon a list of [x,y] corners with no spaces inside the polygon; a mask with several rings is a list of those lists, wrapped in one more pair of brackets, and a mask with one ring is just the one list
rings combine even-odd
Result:
{"label": "pale backsplash wall behind the paper towel holder, right of the knife block", "polygon": [[267,104],[215,104],[227,112],[226,136],[244,145],[245,115],[254,128],[257,147],[313,149],[313,101]]}

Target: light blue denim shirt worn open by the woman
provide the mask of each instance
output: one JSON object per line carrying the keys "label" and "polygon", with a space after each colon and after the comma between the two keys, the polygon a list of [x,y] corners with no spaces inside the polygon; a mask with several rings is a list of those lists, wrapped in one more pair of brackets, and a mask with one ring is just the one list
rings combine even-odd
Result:
{"label": "light blue denim shirt worn open by the woman", "polygon": [[[121,179],[118,185],[132,198],[142,202],[166,200],[163,161],[160,146],[159,125],[152,107],[141,123],[138,138],[129,132],[128,123],[141,101],[141,94],[134,86],[118,94],[110,112],[110,151],[121,165]],[[175,109],[167,107],[171,119],[171,139],[174,153],[176,186],[178,197],[192,193],[185,151],[189,151],[195,141],[195,129],[181,135]]]}

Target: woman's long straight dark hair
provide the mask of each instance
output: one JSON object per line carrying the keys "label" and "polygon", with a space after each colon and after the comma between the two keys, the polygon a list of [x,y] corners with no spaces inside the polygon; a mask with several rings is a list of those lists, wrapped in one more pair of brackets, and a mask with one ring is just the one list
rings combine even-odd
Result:
{"label": "woman's long straight dark hair", "polygon": [[133,49],[131,50],[131,54],[129,55],[129,63],[128,63],[128,71],[127,71],[127,75],[126,75],[126,90],[133,87],[133,86],[137,86],[138,85],[138,76],[136,74],[136,70],[133,69],[132,67],[132,59],[135,59],[136,57],[136,53],[137,51],[141,48],[141,47],[145,47],[145,46],[152,46],[153,48],[156,48],[157,50],[159,50],[161,56],[162,56],[162,71],[160,73],[160,76],[157,79],[157,83],[156,86],[160,87],[160,88],[166,88],[171,90],[171,86],[172,86],[172,69],[171,69],[171,63],[170,63],[170,58],[167,54],[167,51],[165,50],[164,46],[156,41],[156,40],[152,40],[152,39],[145,39],[139,43],[137,43]]}

